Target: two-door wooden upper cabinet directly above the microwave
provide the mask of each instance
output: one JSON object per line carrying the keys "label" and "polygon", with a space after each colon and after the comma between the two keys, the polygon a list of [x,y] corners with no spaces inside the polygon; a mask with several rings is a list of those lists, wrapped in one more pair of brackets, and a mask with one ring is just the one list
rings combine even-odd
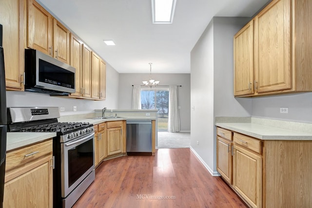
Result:
{"label": "two-door wooden upper cabinet directly above the microwave", "polygon": [[27,1],[27,47],[69,64],[69,34],[39,3]]}

